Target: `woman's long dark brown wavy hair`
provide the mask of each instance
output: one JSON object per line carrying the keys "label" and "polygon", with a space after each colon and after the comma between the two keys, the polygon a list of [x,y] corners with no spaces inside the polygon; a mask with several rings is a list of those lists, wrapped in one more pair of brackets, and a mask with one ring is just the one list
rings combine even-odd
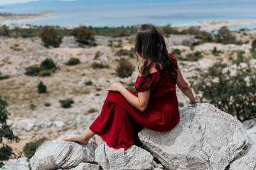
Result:
{"label": "woman's long dark brown wavy hair", "polygon": [[[147,75],[149,75],[150,79],[149,85],[151,84],[152,76],[150,69],[154,64],[163,79],[163,71],[169,72],[174,76],[172,63],[174,59],[168,54],[164,37],[167,37],[164,34],[164,30],[151,23],[143,24],[139,30],[137,30],[133,52],[134,55],[137,56],[137,61],[139,61],[138,55],[144,60],[141,71],[143,79],[140,85],[144,84],[144,79]],[[164,83],[167,84],[165,79]]]}

